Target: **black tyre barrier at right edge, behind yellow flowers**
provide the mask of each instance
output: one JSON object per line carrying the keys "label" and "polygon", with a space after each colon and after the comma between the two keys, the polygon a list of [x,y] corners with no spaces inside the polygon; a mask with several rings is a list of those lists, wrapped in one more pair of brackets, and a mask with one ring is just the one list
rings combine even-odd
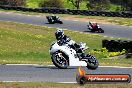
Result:
{"label": "black tyre barrier at right edge, behind yellow flowers", "polygon": [[105,47],[108,52],[121,52],[125,49],[126,58],[132,57],[132,41],[102,40],[102,47]]}

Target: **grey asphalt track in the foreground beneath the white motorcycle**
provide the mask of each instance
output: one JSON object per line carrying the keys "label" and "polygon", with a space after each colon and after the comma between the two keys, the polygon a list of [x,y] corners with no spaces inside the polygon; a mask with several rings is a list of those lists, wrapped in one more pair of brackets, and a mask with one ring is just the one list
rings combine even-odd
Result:
{"label": "grey asphalt track in the foreground beneath the white motorcycle", "polygon": [[[99,67],[86,69],[88,74],[130,74],[132,68]],[[77,67],[58,69],[54,66],[0,65],[0,81],[3,82],[76,82]]]}

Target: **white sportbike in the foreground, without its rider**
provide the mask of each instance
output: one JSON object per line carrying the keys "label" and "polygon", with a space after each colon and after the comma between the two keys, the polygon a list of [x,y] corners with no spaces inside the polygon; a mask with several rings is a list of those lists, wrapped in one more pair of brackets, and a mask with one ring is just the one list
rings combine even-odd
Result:
{"label": "white sportbike in the foreground, without its rider", "polygon": [[[66,69],[68,66],[86,66],[88,69],[98,68],[98,60],[90,55],[77,53],[75,49],[71,48],[70,45],[75,41],[70,40],[64,45],[59,45],[59,42],[54,41],[50,47],[50,55],[53,64],[61,69]],[[86,43],[80,43],[80,50],[84,51],[88,47]]]}

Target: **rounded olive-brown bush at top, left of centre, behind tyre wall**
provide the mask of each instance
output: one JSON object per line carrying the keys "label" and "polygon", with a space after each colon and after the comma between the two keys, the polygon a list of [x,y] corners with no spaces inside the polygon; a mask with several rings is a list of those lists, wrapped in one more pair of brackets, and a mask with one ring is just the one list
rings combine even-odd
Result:
{"label": "rounded olive-brown bush at top, left of centre, behind tyre wall", "polygon": [[62,0],[44,0],[39,4],[40,7],[56,7],[63,8]]}

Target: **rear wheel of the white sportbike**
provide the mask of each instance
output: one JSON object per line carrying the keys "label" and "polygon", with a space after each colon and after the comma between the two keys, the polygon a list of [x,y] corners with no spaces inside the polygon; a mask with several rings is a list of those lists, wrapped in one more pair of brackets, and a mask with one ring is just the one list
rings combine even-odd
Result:
{"label": "rear wheel of the white sportbike", "polygon": [[95,70],[98,68],[98,66],[99,66],[98,60],[94,56],[89,55],[87,60],[87,68]]}

